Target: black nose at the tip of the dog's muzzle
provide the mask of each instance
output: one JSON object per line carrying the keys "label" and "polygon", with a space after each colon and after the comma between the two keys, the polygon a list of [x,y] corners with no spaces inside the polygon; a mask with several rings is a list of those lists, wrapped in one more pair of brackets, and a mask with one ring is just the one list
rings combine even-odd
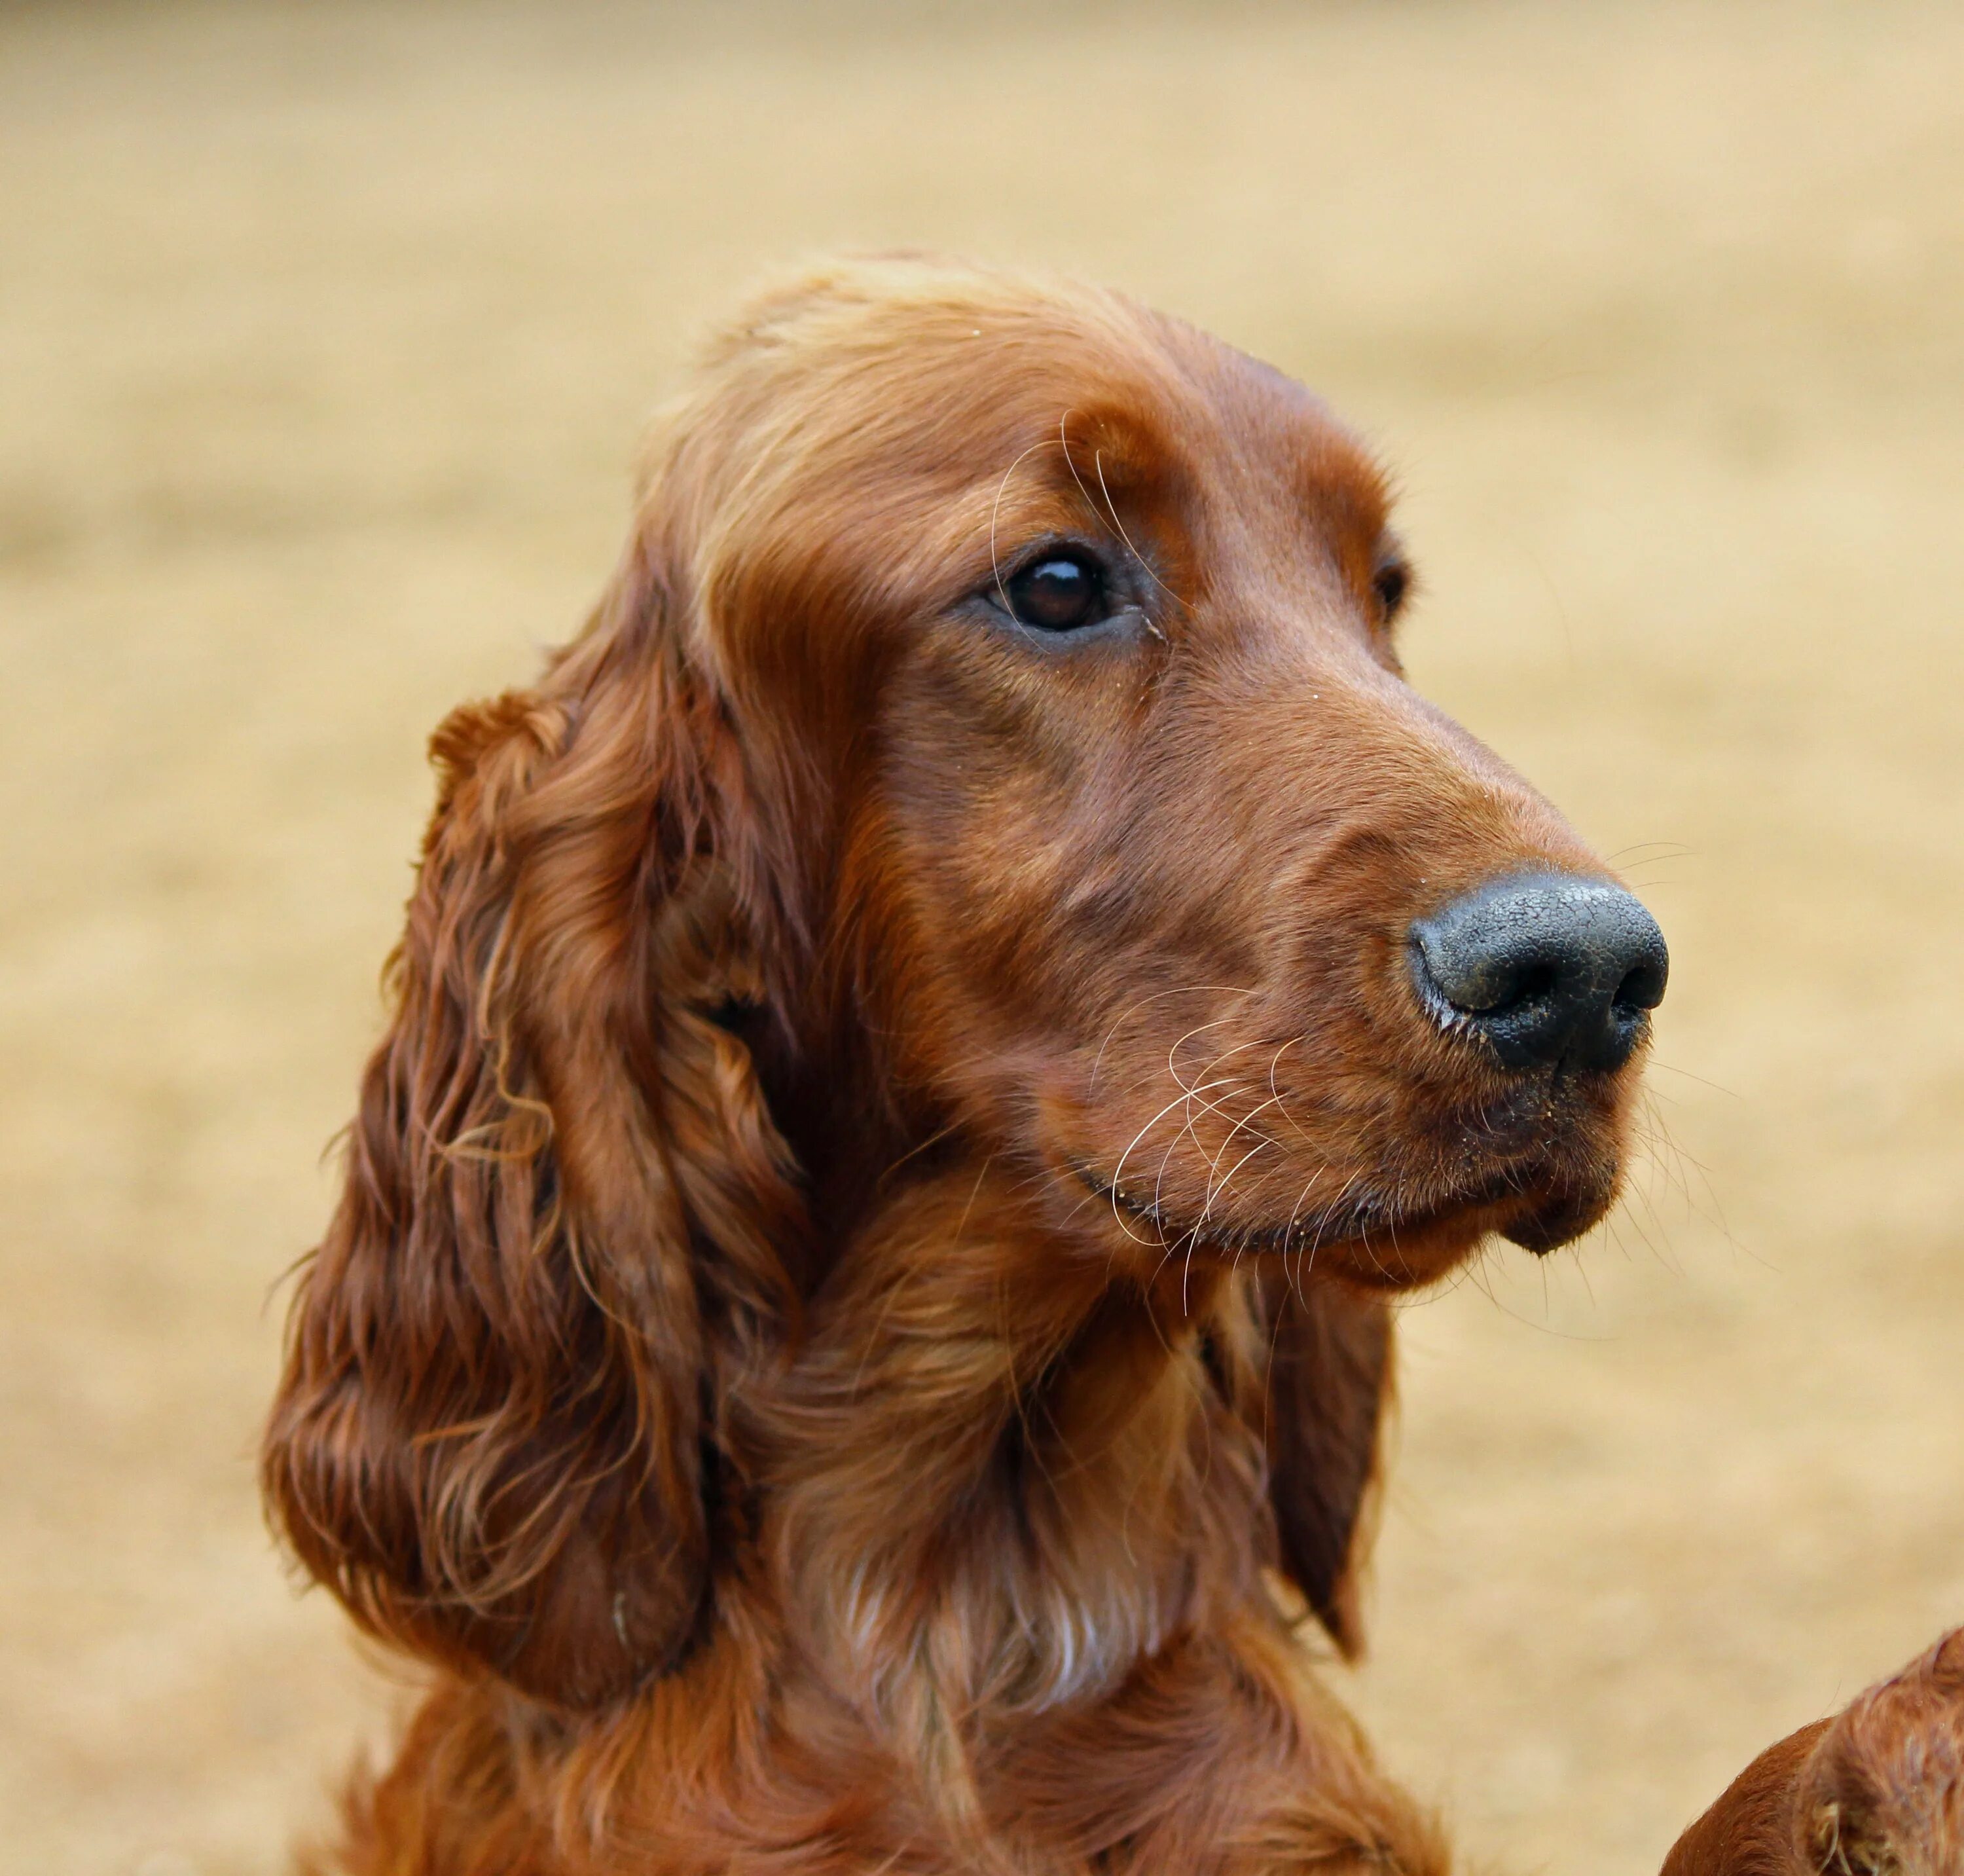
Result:
{"label": "black nose at the tip of the dog's muzzle", "polygon": [[1508,1069],[1620,1069],[1669,968],[1658,921],[1603,880],[1497,880],[1412,927],[1434,1021],[1483,1035]]}

